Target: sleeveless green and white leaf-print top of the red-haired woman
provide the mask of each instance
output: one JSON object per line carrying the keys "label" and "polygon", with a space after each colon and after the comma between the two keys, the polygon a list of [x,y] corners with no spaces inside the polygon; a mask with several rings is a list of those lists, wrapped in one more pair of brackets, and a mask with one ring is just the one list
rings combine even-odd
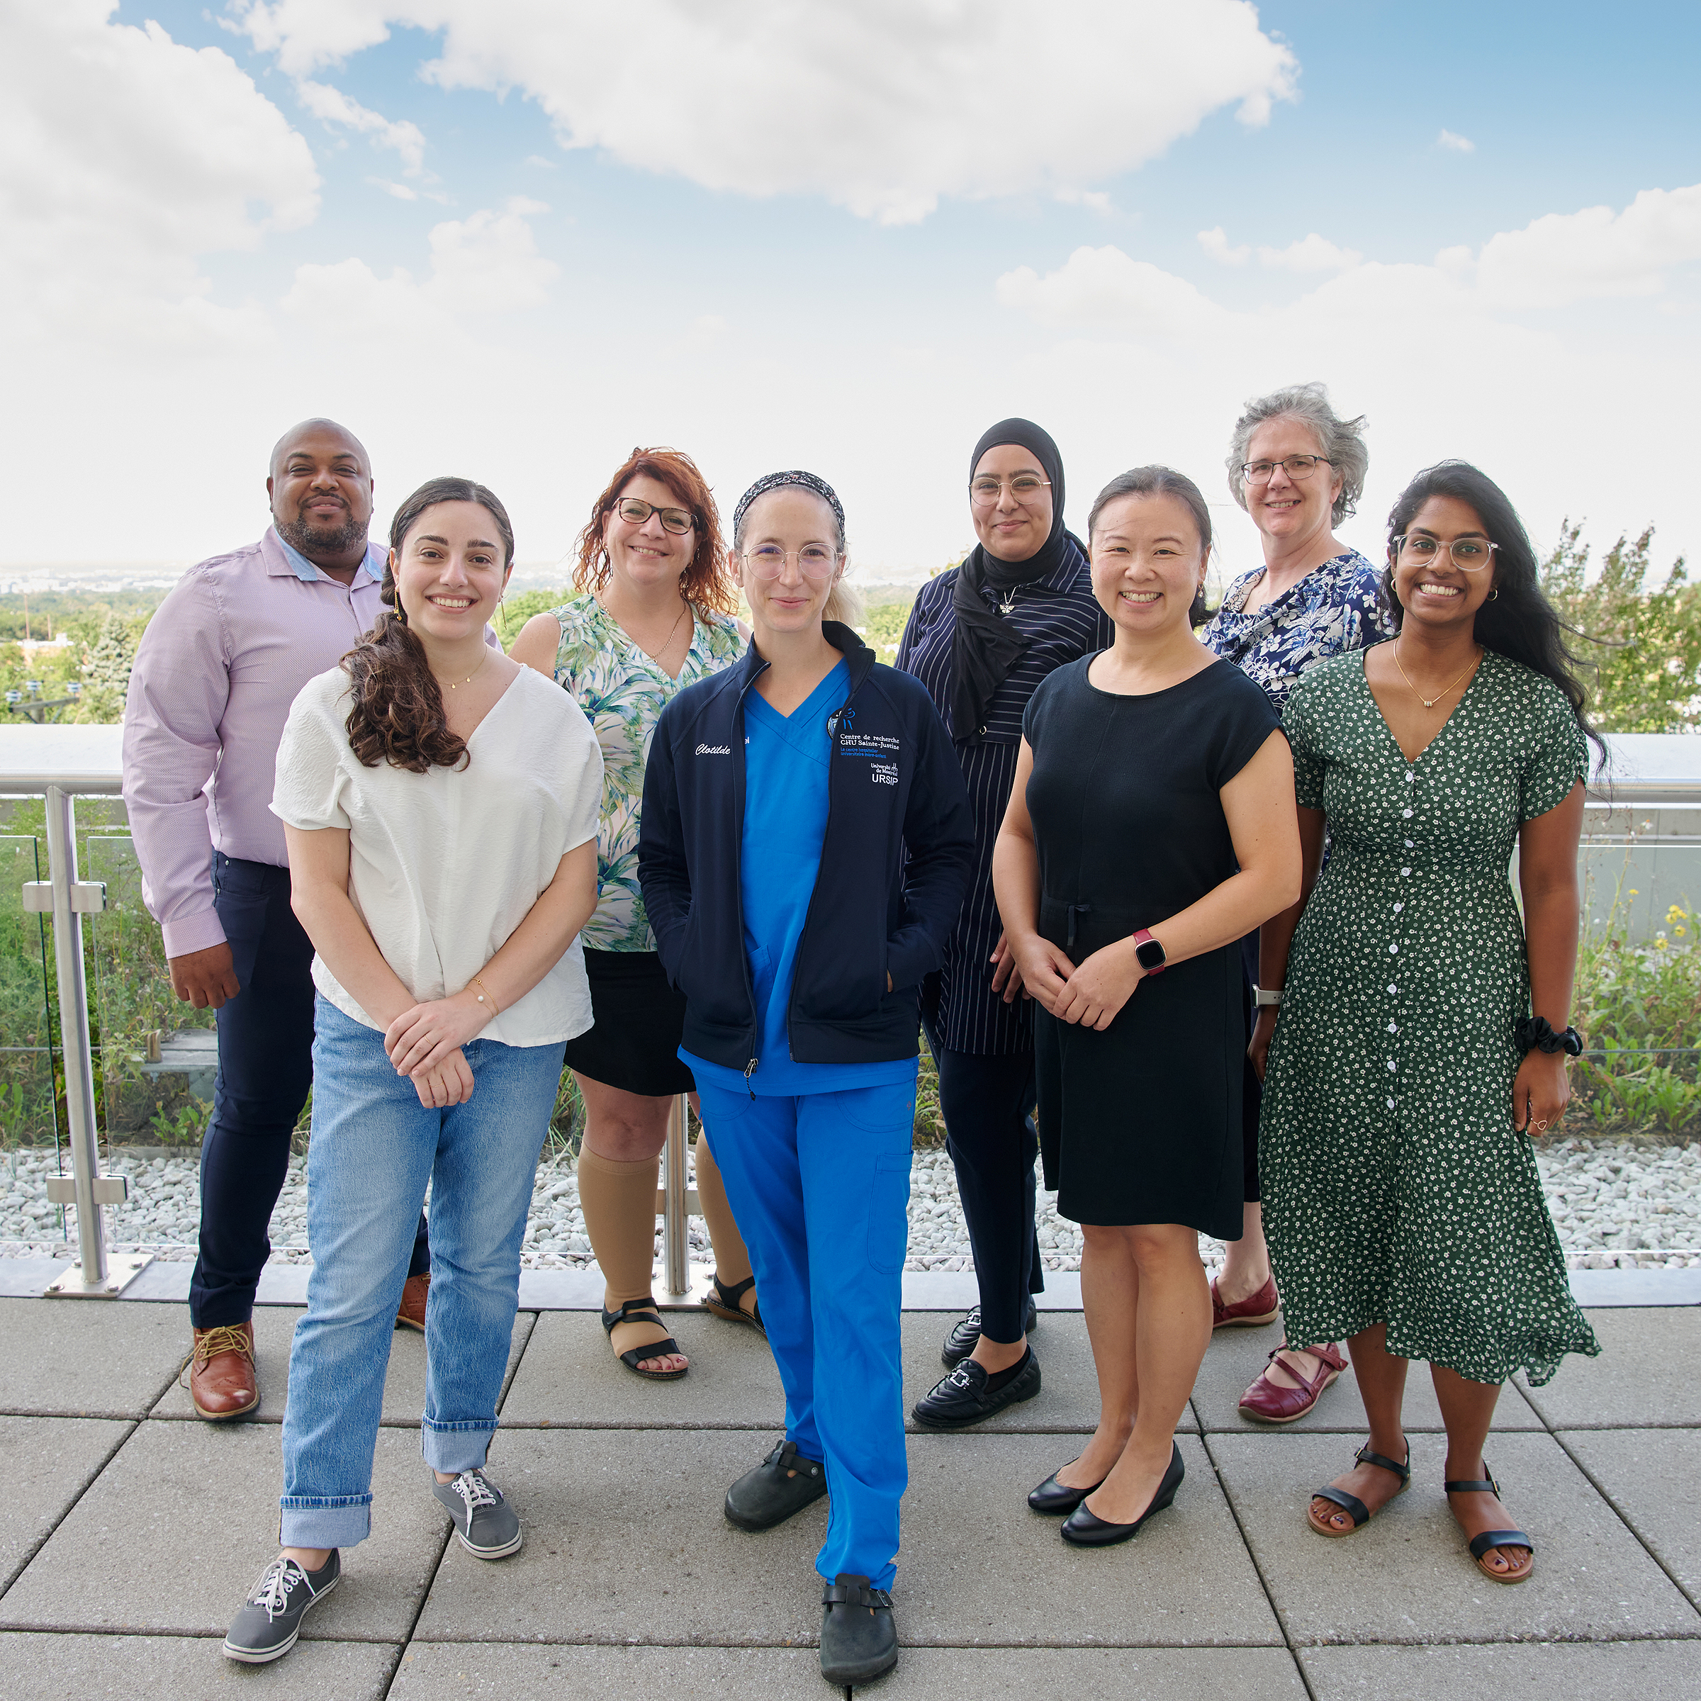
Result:
{"label": "sleeveless green and white leaf-print top of the red-haired woman", "polygon": [[697,609],[679,679],[668,679],[589,592],[551,609],[561,623],[555,682],[585,711],[602,745],[597,813],[597,908],[580,939],[592,951],[653,951],[638,890],[638,808],[655,723],[674,694],[730,667],[743,653],[725,614]]}

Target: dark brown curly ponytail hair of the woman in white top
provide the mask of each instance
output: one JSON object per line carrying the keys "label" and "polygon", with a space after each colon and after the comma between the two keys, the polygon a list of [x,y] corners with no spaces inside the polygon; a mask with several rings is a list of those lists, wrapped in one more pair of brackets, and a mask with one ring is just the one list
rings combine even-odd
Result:
{"label": "dark brown curly ponytail hair of the woman in white top", "polygon": [[[503,568],[514,565],[509,510],[493,492],[471,478],[427,480],[396,509],[390,522],[391,561],[401,555],[420,515],[439,502],[476,502],[485,509],[502,538]],[[390,612],[379,614],[373,629],[342,658],[354,696],[347,723],[349,745],[362,767],[388,762],[410,774],[425,774],[432,767],[464,767],[469,760],[466,740],[449,731],[442,687],[425,658],[425,646],[408,631],[391,561],[384,563],[384,580],[378,592]]]}

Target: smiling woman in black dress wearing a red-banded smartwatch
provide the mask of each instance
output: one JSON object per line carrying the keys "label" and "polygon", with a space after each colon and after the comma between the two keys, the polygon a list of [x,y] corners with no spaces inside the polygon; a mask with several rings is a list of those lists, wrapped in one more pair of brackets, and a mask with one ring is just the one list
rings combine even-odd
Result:
{"label": "smiling woman in black dress wearing a red-banded smartwatch", "polygon": [[1092,1441],[1027,1504],[1104,1546],[1184,1475],[1175,1424],[1211,1339],[1199,1235],[1233,1240],[1242,1220],[1238,941],[1294,902],[1300,830],[1276,711],[1192,634],[1198,486],[1123,473],[1087,534],[1116,641],[1034,692],[993,879],[1039,1005],[1039,1145],[1082,1225],[1099,1371]]}

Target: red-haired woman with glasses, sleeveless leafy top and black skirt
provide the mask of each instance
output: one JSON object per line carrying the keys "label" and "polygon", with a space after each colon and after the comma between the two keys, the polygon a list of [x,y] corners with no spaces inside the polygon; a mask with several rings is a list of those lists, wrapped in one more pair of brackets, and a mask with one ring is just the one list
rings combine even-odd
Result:
{"label": "red-haired woman with glasses, sleeveless leafy top and black skirt", "polygon": [[[703,475],[675,449],[634,449],[578,538],[578,595],[526,623],[515,660],[572,692],[602,745],[597,912],[580,936],[595,1026],[566,1048],[585,1101],[578,1203],[604,1279],[602,1325],[628,1369],[687,1369],[650,1291],[657,1158],[674,1097],[686,1000],[667,983],[638,890],[638,808],[662,709],[718,674],[748,636],[731,617],[720,515]],[[760,1327],[755,1281],[708,1143],[697,1198],[714,1243],[711,1308]]]}

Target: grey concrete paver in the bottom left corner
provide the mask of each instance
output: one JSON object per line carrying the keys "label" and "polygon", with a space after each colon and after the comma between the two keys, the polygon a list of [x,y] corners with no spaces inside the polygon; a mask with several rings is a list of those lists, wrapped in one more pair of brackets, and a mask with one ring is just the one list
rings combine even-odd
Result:
{"label": "grey concrete paver in the bottom left corner", "polygon": [[[320,1611],[328,1611],[330,1602]],[[381,1701],[400,1648],[301,1641],[276,1665],[236,1667],[211,1636],[54,1636],[0,1631],[7,1701],[213,1701],[243,1694]]]}

